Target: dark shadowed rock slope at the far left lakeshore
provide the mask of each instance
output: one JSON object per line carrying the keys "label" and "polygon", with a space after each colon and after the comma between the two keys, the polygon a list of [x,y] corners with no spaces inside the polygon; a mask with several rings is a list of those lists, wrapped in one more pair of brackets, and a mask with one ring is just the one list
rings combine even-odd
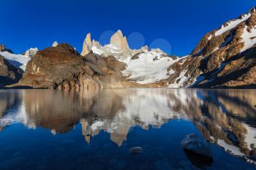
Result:
{"label": "dark shadowed rock slope at the far left lakeshore", "polygon": [[22,70],[16,68],[0,55],[0,88],[12,85],[22,77]]}

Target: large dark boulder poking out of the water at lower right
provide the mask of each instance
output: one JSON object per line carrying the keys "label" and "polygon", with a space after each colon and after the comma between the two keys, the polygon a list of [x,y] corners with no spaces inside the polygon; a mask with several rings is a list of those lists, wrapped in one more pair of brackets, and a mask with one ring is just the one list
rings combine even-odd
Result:
{"label": "large dark boulder poking out of the water at lower right", "polygon": [[206,158],[212,158],[213,152],[211,150],[211,145],[196,134],[189,134],[185,136],[184,140],[181,142],[184,150],[189,152],[194,152],[197,155],[202,155]]}

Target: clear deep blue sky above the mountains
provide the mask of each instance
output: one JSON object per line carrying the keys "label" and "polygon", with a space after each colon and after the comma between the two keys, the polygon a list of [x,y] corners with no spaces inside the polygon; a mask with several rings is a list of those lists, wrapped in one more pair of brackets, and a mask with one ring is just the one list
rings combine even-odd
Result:
{"label": "clear deep blue sky above the mountains", "polygon": [[[172,46],[168,53],[187,55],[204,34],[247,12],[256,1],[6,0],[0,4],[0,43],[15,53],[29,47],[42,50],[55,40],[81,51],[87,32],[99,39],[105,31],[121,29],[127,36],[139,32],[147,45],[154,42],[163,50],[161,39],[165,39]],[[129,43],[132,48],[139,44]]]}

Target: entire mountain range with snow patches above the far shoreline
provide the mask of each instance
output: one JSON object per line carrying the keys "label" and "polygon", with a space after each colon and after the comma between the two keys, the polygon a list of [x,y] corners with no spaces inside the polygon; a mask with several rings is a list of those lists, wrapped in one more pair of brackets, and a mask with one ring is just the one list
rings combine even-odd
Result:
{"label": "entire mountain range with snow patches above the far shoreline", "polygon": [[[203,36],[184,57],[147,46],[132,50],[120,30],[104,46],[87,34],[81,54],[54,42],[23,55],[0,45],[0,56],[2,87],[256,88],[256,7]],[[18,72],[8,69],[10,65]]]}

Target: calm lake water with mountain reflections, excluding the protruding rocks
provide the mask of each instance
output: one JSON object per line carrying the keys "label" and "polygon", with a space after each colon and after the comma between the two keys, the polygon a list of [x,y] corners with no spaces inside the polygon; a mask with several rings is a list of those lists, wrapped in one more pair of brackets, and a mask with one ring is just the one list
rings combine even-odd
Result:
{"label": "calm lake water with mountain reflections, excluding the protruding rocks", "polygon": [[[0,90],[0,169],[255,169],[255,105],[256,90]],[[213,163],[184,152],[192,133]]]}

